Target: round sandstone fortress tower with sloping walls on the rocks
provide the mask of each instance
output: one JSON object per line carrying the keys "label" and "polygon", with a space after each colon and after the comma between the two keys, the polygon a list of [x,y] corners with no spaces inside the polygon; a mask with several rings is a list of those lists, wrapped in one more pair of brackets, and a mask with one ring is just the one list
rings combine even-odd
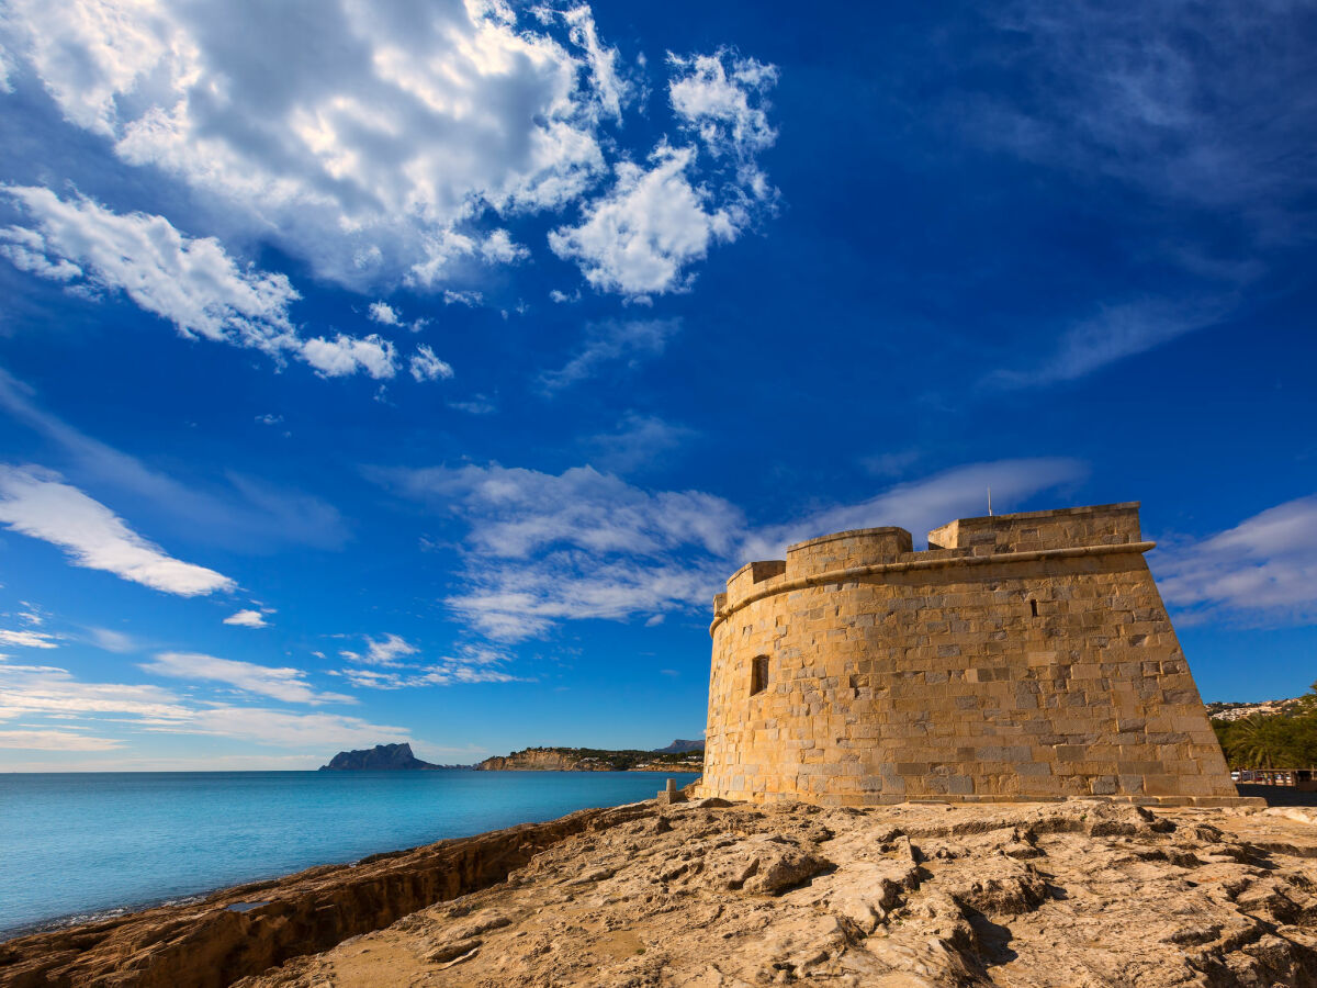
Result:
{"label": "round sandstone fortress tower with sloping walls on the rocks", "polygon": [[714,598],[695,792],[1237,805],[1138,503],[838,532]]}

